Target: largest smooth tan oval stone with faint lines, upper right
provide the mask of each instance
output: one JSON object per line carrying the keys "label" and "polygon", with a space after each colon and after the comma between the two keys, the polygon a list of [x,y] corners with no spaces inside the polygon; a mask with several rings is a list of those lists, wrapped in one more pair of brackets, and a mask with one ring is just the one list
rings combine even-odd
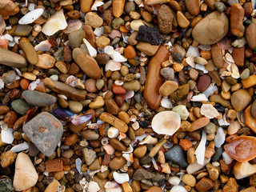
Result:
{"label": "largest smooth tan oval stone with faint lines, upper right", "polygon": [[192,36],[201,44],[211,45],[224,38],[228,30],[229,19],[226,14],[214,11],[194,26]]}

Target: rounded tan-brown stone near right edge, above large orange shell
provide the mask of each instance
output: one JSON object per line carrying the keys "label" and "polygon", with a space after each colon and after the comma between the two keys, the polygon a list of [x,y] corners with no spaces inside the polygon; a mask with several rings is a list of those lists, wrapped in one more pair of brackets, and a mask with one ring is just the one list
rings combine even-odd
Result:
{"label": "rounded tan-brown stone near right edge, above large orange shell", "polygon": [[231,104],[236,111],[244,110],[250,103],[250,100],[251,95],[244,89],[235,91],[231,96]]}

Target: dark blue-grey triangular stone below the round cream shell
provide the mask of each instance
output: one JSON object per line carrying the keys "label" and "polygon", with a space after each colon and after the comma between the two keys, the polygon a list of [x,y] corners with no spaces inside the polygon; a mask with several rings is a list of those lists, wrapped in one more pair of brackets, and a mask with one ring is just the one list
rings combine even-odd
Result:
{"label": "dark blue-grey triangular stone below the round cream shell", "polygon": [[178,166],[182,168],[186,168],[189,166],[188,162],[186,162],[186,155],[182,150],[181,146],[174,145],[168,150],[165,154],[166,159],[170,162],[174,162]]}

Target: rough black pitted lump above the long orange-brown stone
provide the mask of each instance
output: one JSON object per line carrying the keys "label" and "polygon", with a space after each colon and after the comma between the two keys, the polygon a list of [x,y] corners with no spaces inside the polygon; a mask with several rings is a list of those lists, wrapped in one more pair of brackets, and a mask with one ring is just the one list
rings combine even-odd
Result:
{"label": "rough black pitted lump above the long orange-brown stone", "polygon": [[136,40],[138,42],[149,42],[151,45],[158,46],[161,45],[163,40],[152,27],[140,26],[138,29],[138,34],[136,35]]}

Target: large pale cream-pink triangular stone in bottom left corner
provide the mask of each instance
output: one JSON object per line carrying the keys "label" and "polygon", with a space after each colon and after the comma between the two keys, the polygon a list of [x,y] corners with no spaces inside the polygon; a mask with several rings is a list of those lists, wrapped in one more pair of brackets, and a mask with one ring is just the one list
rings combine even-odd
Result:
{"label": "large pale cream-pink triangular stone in bottom left corner", "polygon": [[19,153],[15,162],[14,189],[27,190],[38,182],[38,173],[27,154]]}

